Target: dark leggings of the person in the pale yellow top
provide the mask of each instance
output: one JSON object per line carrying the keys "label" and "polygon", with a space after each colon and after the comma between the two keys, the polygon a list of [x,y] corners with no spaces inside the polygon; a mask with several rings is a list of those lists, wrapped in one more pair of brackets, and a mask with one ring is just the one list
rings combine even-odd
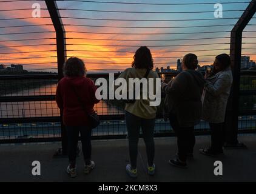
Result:
{"label": "dark leggings of the person in the pale yellow top", "polygon": [[155,119],[143,119],[129,112],[126,112],[126,125],[129,139],[130,163],[132,168],[136,169],[140,128],[143,132],[143,139],[146,144],[147,162],[149,166],[152,166],[153,159],[155,157],[155,142],[153,139]]}

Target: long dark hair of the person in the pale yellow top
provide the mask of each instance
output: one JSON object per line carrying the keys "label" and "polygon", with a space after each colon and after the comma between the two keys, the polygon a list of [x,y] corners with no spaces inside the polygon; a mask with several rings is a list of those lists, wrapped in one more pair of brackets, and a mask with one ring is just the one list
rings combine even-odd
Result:
{"label": "long dark hair of the person in the pale yellow top", "polygon": [[138,69],[153,69],[153,58],[147,47],[140,47],[133,56],[132,67]]}

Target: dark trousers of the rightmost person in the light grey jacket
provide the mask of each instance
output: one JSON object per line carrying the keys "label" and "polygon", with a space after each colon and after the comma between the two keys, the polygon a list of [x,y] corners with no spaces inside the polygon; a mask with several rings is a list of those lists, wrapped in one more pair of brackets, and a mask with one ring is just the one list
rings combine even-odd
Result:
{"label": "dark trousers of the rightmost person in the light grey jacket", "polygon": [[223,152],[224,123],[209,123],[211,129],[211,149],[213,152]]}

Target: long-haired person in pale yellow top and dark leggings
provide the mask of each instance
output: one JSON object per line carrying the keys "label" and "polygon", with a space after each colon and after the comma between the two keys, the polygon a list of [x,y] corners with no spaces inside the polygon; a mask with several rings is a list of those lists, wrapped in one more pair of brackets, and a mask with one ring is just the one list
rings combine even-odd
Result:
{"label": "long-haired person in pale yellow top and dark leggings", "polygon": [[[152,71],[153,59],[150,50],[147,47],[140,47],[140,49],[136,50],[133,58],[134,61],[132,62],[132,68],[126,69],[119,76],[119,78],[126,79],[127,85],[129,78],[153,78],[154,80],[158,78],[157,72]],[[129,90],[129,87],[127,90]],[[149,175],[153,175],[155,173],[155,144],[153,140],[153,132],[157,107],[150,106],[149,99],[142,99],[142,91],[140,93],[140,99],[126,103],[125,107],[130,153],[130,164],[127,164],[126,171],[131,178],[136,178],[137,176],[136,160],[138,155],[140,129],[143,132],[143,138],[147,150],[147,172]]]}

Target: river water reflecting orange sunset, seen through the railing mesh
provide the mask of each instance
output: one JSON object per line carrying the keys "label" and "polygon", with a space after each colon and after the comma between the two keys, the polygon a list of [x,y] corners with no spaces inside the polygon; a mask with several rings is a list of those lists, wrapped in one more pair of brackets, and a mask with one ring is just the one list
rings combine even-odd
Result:
{"label": "river water reflecting orange sunset, seen through the railing mesh", "polygon": [[[36,89],[20,90],[5,96],[55,95],[56,84],[50,84]],[[123,110],[106,101],[95,104],[99,115],[123,114]],[[55,101],[30,102],[0,102],[0,118],[25,118],[37,116],[59,116]]]}

